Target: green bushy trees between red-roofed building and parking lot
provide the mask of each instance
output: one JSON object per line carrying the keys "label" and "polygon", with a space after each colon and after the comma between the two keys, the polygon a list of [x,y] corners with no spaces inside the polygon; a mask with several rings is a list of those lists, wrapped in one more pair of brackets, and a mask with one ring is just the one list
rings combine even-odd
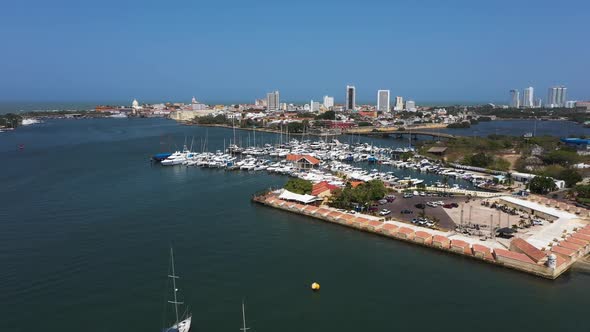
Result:
{"label": "green bushy trees between red-roofed building and parking lot", "polygon": [[342,209],[350,209],[354,204],[367,206],[369,203],[381,199],[387,189],[380,180],[372,180],[353,188],[347,183],[342,190],[333,193],[330,205]]}

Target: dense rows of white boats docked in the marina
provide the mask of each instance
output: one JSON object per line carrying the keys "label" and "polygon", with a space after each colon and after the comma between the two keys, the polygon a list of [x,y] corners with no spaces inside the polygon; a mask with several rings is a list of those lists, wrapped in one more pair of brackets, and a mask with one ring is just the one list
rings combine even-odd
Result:
{"label": "dense rows of white boats docked in the marina", "polygon": [[[159,160],[163,166],[185,165],[206,168],[223,168],[226,170],[266,171],[294,177],[304,178],[313,182],[327,181],[340,184],[341,178],[370,181],[379,179],[392,186],[412,186],[424,182],[423,179],[412,177],[397,177],[394,172],[380,172],[377,169],[364,169],[355,163],[389,165],[399,169],[409,169],[416,172],[432,173],[443,178],[462,179],[479,185],[489,181],[485,176],[461,169],[447,168],[437,161],[415,156],[409,160],[399,160],[403,153],[413,151],[409,148],[382,148],[367,143],[343,144],[337,140],[331,142],[311,142],[291,140],[280,145],[266,144],[241,148],[230,145],[224,151],[193,152],[186,146],[181,151],[171,154],[159,154],[154,160]],[[313,170],[300,170],[292,162],[288,162],[288,155],[308,155],[321,160]],[[446,182],[446,181],[443,181]],[[445,187],[446,183],[437,181],[434,186]]]}

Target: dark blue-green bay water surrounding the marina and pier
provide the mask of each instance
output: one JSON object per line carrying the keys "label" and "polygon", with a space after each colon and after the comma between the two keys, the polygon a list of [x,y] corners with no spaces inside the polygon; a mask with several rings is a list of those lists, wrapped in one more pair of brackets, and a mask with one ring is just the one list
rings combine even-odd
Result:
{"label": "dark blue-green bay water surrounding the marina and pier", "polygon": [[242,300],[252,331],[586,326],[586,273],[542,280],[250,202],[286,177],[148,162],[193,136],[214,150],[233,133],[83,119],[0,134],[3,330],[157,331],[170,246],[193,331],[237,331]]}

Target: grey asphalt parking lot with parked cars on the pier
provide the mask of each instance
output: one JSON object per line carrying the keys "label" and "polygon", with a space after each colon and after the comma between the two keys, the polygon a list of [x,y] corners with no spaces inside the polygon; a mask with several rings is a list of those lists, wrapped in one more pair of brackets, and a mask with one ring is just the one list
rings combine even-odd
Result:
{"label": "grey asphalt parking lot with parked cars on the pier", "polygon": [[[457,208],[453,209],[446,209],[442,206],[438,207],[430,207],[427,206],[426,203],[428,202],[437,202],[442,201],[445,204],[450,203],[465,203],[465,197],[439,197],[437,195],[434,196],[414,196],[412,198],[403,198],[403,194],[396,194],[396,199],[391,203],[386,203],[383,205],[379,205],[379,211],[381,209],[388,209],[391,213],[385,217],[395,218],[396,220],[401,220],[405,222],[411,223],[412,219],[419,218],[422,209],[417,208],[416,204],[424,204],[424,212],[426,214],[426,218],[429,219],[437,219],[438,220],[438,228],[441,229],[455,229],[455,222],[453,219],[447,214],[446,210],[456,210]],[[401,213],[403,210],[411,211],[411,213]]]}

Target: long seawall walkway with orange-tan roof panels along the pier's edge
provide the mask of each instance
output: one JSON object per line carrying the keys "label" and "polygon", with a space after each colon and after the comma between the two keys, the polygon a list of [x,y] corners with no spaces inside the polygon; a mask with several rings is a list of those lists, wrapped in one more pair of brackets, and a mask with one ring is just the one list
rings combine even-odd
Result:
{"label": "long seawall walkway with orange-tan roof panels along the pier's edge", "polygon": [[[444,252],[461,255],[481,262],[507,267],[513,270],[529,273],[546,279],[556,279],[577,260],[574,257],[552,255],[553,264],[548,262],[551,259],[550,252],[543,252],[533,248],[526,241],[518,239],[513,241],[511,248],[491,248],[483,244],[468,243],[466,241],[452,238],[453,233],[421,228],[399,221],[385,221],[370,215],[350,214],[337,211],[327,206],[304,205],[296,202],[279,199],[278,196],[270,193],[254,196],[253,201],[300,215],[305,215],[318,220],[338,224],[345,227],[358,229],[395,240],[417,244]],[[590,232],[590,226],[580,230]],[[577,257],[583,257],[590,251],[590,240],[580,245]]]}

